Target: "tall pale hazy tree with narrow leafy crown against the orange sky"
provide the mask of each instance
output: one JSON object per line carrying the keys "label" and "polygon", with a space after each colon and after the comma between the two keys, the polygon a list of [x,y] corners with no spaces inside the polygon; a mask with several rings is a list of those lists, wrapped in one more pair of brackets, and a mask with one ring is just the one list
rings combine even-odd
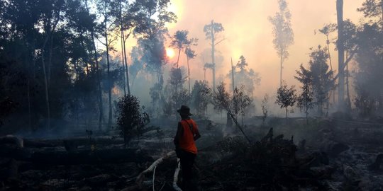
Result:
{"label": "tall pale hazy tree with narrow leafy crown against the orange sky", "polygon": [[283,62],[289,57],[287,49],[294,43],[294,33],[292,31],[291,18],[292,14],[287,8],[287,2],[285,0],[278,0],[279,12],[274,17],[269,17],[270,23],[273,25],[272,33],[274,34],[274,49],[277,50],[277,54],[280,59],[280,75],[279,84],[282,86],[282,68]]}

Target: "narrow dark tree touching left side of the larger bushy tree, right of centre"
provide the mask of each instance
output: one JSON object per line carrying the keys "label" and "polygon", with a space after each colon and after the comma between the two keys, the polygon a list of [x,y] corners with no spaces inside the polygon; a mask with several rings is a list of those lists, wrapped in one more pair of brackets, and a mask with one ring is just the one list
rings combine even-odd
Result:
{"label": "narrow dark tree touching left side of the larger bushy tree, right of centre", "polygon": [[313,76],[311,71],[305,69],[301,64],[300,71],[296,71],[298,76],[294,76],[301,84],[301,93],[297,97],[297,105],[306,114],[306,125],[309,124],[309,110],[313,108]]}

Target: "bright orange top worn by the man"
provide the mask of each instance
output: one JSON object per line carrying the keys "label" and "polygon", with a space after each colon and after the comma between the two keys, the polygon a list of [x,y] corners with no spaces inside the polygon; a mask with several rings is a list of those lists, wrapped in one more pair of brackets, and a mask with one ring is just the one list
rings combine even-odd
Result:
{"label": "bright orange top worn by the man", "polygon": [[[187,122],[186,122],[187,121]],[[189,124],[188,124],[189,123]],[[197,153],[196,143],[194,142],[194,134],[198,131],[196,122],[194,120],[181,120],[183,134],[179,137],[179,148],[184,151]],[[192,126],[192,128],[189,127]]]}

